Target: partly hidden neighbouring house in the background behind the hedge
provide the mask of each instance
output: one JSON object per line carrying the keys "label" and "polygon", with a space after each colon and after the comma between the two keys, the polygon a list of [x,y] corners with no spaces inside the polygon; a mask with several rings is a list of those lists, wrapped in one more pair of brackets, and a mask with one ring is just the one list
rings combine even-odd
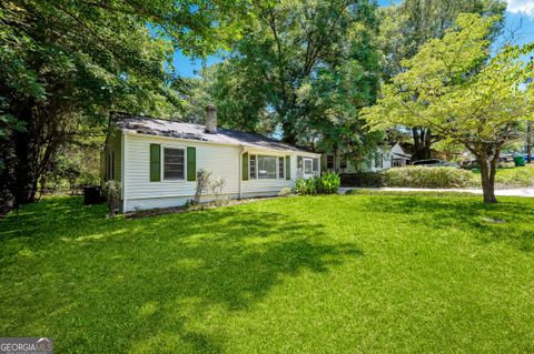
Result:
{"label": "partly hidden neighbouring house in the background behind the hedge", "polygon": [[403,148],[396,143],[393,146],[379,146],[370,156],[359,164],[347,160],[342,154],[324,154],[322,156],[322,166],[328,171],[339,173],[355,172],[376,172],[394,166],[409,164],[411,155],[404,152]]}

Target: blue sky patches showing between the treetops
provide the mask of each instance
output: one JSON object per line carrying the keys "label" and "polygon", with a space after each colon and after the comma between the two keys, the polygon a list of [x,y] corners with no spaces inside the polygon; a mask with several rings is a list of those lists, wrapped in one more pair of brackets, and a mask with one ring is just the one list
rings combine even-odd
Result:
{"label": "blue sky patches showing between the treetops", "polygon": [[[378,0],[378,4],[388,6],[399,1]],[[512,32],[516,43],[523,44],[534,40],[534,0],[508,0],[504,36],[510,36]],[[209,57],[204,64],[210,65],[218,60],[217,57]],[[174,63],[178,73],[182,77],[192,77],[195,71],[202,67],[201,60],[187,58],[180,51],[176,51]]]}

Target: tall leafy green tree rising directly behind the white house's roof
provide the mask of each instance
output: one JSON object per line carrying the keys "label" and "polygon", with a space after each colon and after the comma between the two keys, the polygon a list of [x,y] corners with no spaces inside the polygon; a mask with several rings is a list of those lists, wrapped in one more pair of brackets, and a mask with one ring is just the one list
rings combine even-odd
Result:
{"label": "tall leafy green tree rising directly behind the white house's roof", "polygon": [[289,143],[366,149],[376,139],[358,112],[376,99],[380,70],[374,1],[280,0],[256,11],[219,67],[215,92],[219,100],[233,93],[233,122],[267,122],[261,127],[277,127]]}

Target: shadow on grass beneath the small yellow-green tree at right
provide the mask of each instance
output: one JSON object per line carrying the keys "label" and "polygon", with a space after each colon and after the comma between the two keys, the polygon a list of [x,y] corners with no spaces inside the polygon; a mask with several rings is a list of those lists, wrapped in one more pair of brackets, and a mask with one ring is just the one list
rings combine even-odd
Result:
{"label": "shadow on grass beneath the small yellow-green tree at right", "polygon": [[507,242],[521,251],[534,251],[534,200],[501,198],[497,204],[484,204],[481,196],[406,193],[394,195],[387,202],[366,202],[368,212],[406,215],[406,222],[417,227],[458,227],[476,233],[482,243]]}

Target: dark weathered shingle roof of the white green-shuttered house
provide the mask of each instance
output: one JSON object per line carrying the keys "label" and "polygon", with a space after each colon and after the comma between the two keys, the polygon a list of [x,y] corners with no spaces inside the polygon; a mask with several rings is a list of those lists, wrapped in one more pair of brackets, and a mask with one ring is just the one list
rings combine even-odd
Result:
{"label": "dark weathered shingle roof of the white green-shuttered house", "polygon": [[261,134],[245,133],[234,129],[224,128],[218,128],[217,134],[210,134],[205,131],[205,125],[131,115],[128,113],[112,113],[111,124],[117,125],[122,131],[138,134],[169,136],[229,145],[244,145],[256,149],[307,152],[304,149],[298,149],[294,145],[283,143]]}

